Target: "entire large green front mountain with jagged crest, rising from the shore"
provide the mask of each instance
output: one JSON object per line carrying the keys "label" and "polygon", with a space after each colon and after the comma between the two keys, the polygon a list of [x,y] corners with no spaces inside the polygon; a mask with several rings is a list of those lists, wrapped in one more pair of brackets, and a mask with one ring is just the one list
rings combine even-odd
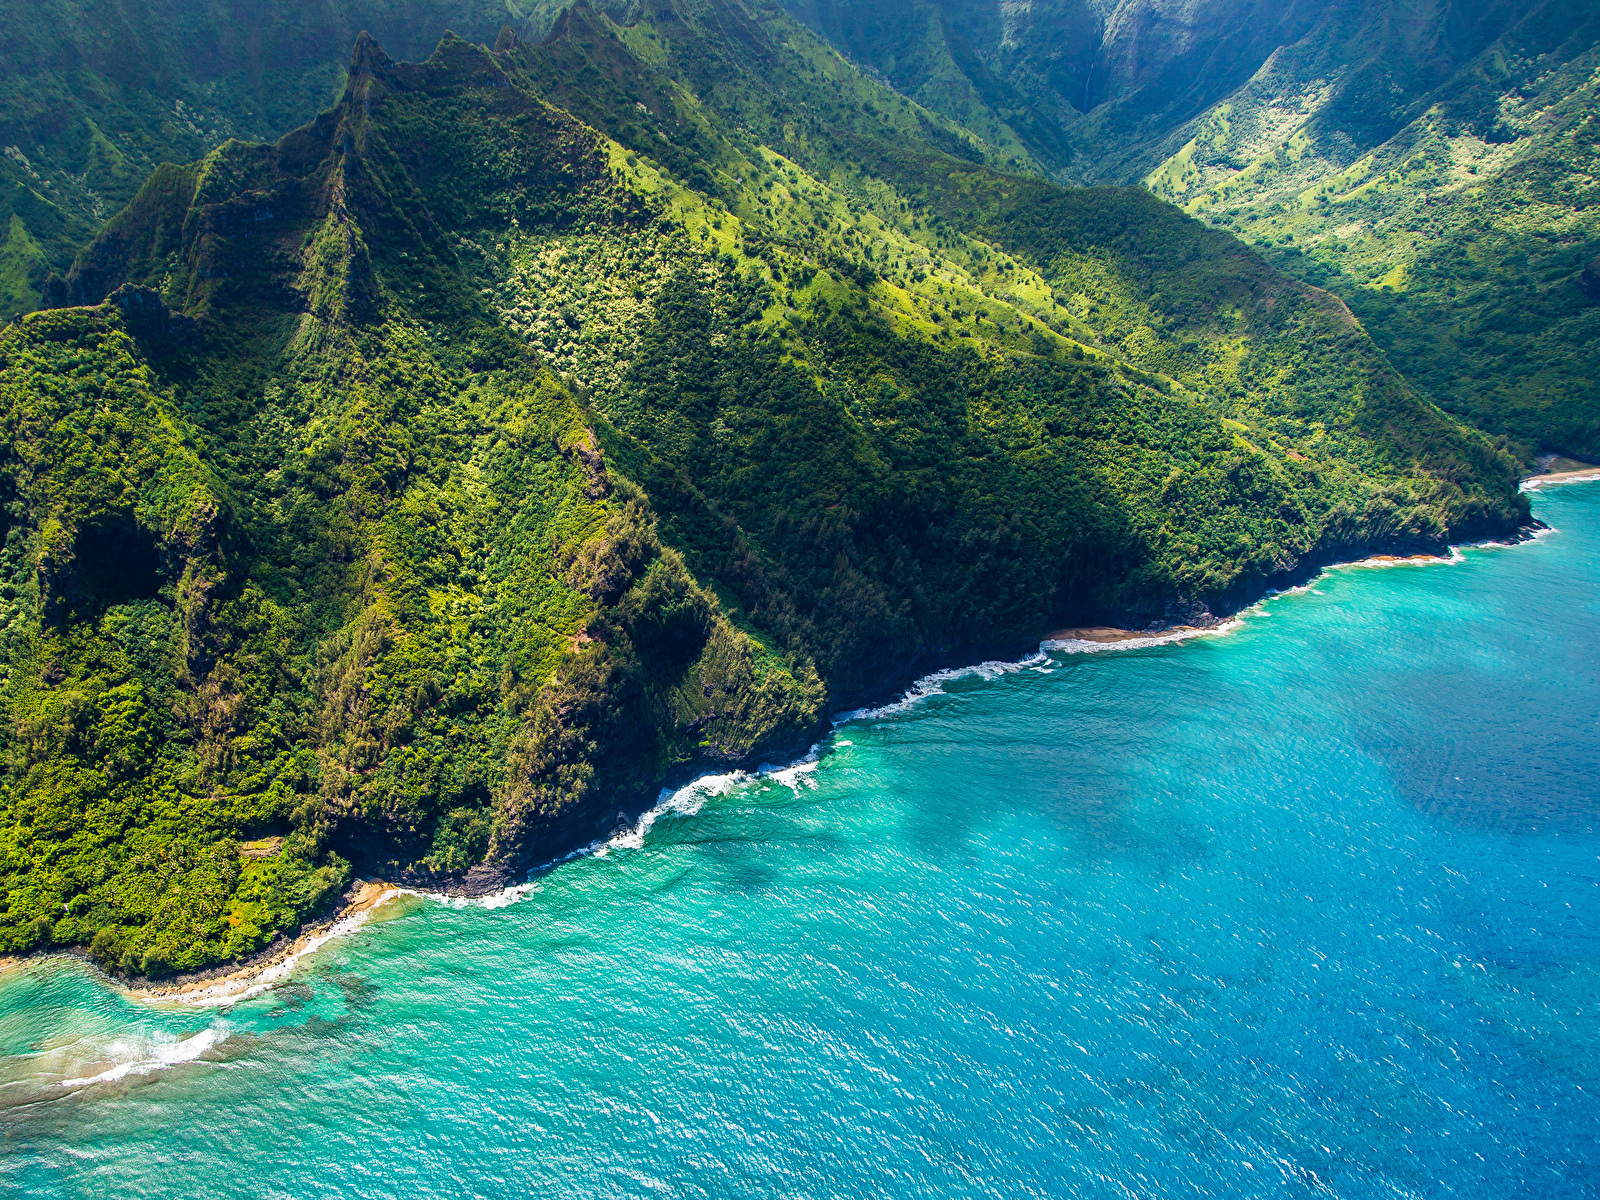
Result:
{"label": "entire large green front mountain with jagged crest, rising from the shore", "polygon": [[362,38],[0,333],[3,949],[496,886],[1051,618],[1526,518],[1336,301],[738,32],[766,90],[682,13]]}

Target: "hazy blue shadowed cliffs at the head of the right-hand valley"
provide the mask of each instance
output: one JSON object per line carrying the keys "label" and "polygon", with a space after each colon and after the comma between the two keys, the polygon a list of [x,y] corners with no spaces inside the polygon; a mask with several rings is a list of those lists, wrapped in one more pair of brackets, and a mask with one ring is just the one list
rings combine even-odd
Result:
{"label": "hazy blue shadowed cliffs at the head of the right-hand valley", "polygon": [[[1021,142],[1061,179],[1109,184],[1141,181],[1221,109],[1251,139],[1314,118],[1325,138],[1370,149],[1518,29],[1592,40],[1578,0],[790,0],[787,11],[926,107],[995,131],[992,144]],[[1493,109],[1493,96],[1474,102],[1485,101]]]}

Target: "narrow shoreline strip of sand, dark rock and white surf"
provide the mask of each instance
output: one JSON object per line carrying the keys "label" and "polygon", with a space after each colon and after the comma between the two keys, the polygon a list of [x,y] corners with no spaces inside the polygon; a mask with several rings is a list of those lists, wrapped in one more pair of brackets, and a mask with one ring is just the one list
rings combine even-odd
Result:
{"label": "narrow shoreline strip of sand, dark rock and white surf", "polygon": [[[1554,475],[1538,475],[1523,483],[1525,491],[1536,490],[1538,483],[1579,483],[1587,480],[1600,480],[1600,467],[1560,472]],[[1534,485],[1534,486],[1530,486]],[[1533,523],[1533,530],[1538,528],[1538,522]],[[1515,544],[1526,541],[1536,533],[1530,528],[1518,531],[1522,536],[1515,536],[1504,542],[1461,542],[1459,546],[1480,546],[1480,544]],[[984,674],[986,669],[995,674],[1019,670],[1043,653],[1054,651],[1104,651],[1104,650],[1141,650],[1147,646],[1168,645],[1174,642],[1189,640],[1205,634],[1226,634],[1237,629],[1242,622],[1243,613],[1261,603],[1262,600],[1270,600],[1275,595],[1282,595],[1286,590],[1309,586],[1309,581],[1326,570],[1334,568],[1358,568],[1358,566],[1402,566],[1402,565],[1442,565],[1451,562],[1461,562],[1461,550],[1458,544],[1450,544],[1445,552],[1421,550],[1411,554],[1368,554],[1360,558],[1331,560],[1320,562],[1317,565],[1306,563],[1294,571],[1299,576],[1298,581],[1285,581],[1285,587],[1264,586],[1261,594],[1245,605],[1229,606],[1224,616],[1216,616],[1210,610],[1197,613],[1190,618],[1192,622],[1162,622],[1152,621],[1144,629],[1128,629],[1122,626],[1110,624],[1080,624],[1080,626],[1064,626],[1053,632],[1045,634],[1037,640],[1014,638],[1008,642],[995,643],[973,643],[962,648],[950,648],[942,653],[925,653],[915,656],[915,666],[907,664],[906,669],[896,672],[894,680],[885,680],[880,688],[874,688],[874,693],[882,698],[877,704],[867,704],[861,707],[840,707],[834,710],[827,718],[824,718],[822,728],[818,731],[818,738],[826,738],[827,733],[837,725],[858,717],[875,717],[888,715],[888,712],[901,710],[909,707],[915,701],[936,694],[942,691],[938,685],[946,678],[965,674]],[[1398,549],[1398,547],[1397,547]],[[1288,573],[1285,573],[1288,574]],[[1264,584],[1267,581],[1262,581]],[[989,651],[989,653],[984,653]],[[931,669],[930,669],[931,667]],[[928,686],[923,686],[928,685]],[[109,978],[109,981],[126,997],[144,1002],[144,1003],[179,1003],[192,1006],[210,1006],[210,1008],[226,1008],[242,1000],[248,1000],[254,995],[266,992],[274,987],[282,979],[294,970],[294,965],[307,954],[315,952],[328,941],[341,938],[347,933],[354,933],[371,920],[373,914],[384,904],[398,899],[405,894],[426,896],[438,901],[454,901],[458,904],[467,901],[482,902],[485,907],[504,907],[512,904],[520,898],[523,891],[528,890],[526,877],[541,870],[555,867],[573,858],[584,854],[606,854],[611,848],[632,846],[637,848],[643,843],[643,835],[654,824],[654,821],[666,814],[667,811],[693,813],[699,810],[699,803],[704,803],[704,797],[699,803],[690,797],[691,792],[707,790],[707,795],[720,790],[718,782],[746,779],[746,778],[776,778],[786,786],[795,787],[795,781],[787,778],[790,774],[798,776],[818,762],[819,744],[813,744],[805,754],[790,754],[794,747],[768,747],[768,754],[778,749],[779,758],[792,758],[786,762],[784,766],[773,766],[770,762],[763,762],[758,766],[744,765],[720,765],[720,770],[699,770],[696,771],[693,765],[685,763],[686,770],[670,773],[669,779],[664,781],[658,795],[638,811],[627,813],[624,819],[618,821],[616,829],[610,834],[600,834],[600,837],[592,837],[582,840],[579,845],[570,848],[566,853],[555,854],[554,858],[544,859],[542,864],[531,869],[518,870],[515,875],[522,875],[522,882],[514,878],[512,872],[494,872],[494,878],[485,878],[478,886],[472,886],[467,880],[461,880],[456,885],[446,885],[445,888],[434,891],[424,886],[416,886],[414,883],[387,883],[382,880],[355,880],[344,894],[344,904],[336,909],[330,917],[315,922],[312,925],[302,926],[301,933],[285,942],[277,946],[269,946],[259,950],[250,960],[235,963],[230,966],[218,966],[210,971],[202,971],[195,974],[179,976],[178,979],[158,982],[158,984],[131,984]],[[630,819],[629,819],[630,818]],[[482,870],[475,869],[475,870]],[[462,886],[466,885],[466,886]],[[486,886],[485,886],[486,885]],[[59,952],[58,952],[59,954]],[[24,955],[21,958],[0,960],[0,971],[11,970],[26,965],[32,955]]]}

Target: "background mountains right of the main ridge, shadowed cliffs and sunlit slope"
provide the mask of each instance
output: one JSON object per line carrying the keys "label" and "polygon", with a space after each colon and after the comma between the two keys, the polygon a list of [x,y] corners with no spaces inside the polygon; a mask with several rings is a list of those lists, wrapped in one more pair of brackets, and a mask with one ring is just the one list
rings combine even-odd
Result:
{"label": "background mountains right of the main ridge, shadowed cliffs and sunlit slope", "polygon": [[[1600,458],[1584,0],[794,0],[1061,181],[1133,184],[1328,288],[1435,403]],[[1584,275],[1589,270],[1590,275]]]}

